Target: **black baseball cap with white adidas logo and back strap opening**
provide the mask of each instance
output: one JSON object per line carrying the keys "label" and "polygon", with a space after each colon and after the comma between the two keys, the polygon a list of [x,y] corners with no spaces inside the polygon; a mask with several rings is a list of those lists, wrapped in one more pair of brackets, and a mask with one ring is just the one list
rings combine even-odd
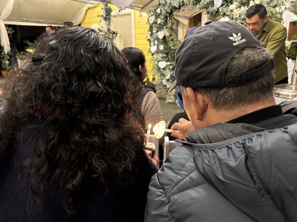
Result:
{"label": "black baseball cap with white adidas logo and back strap opening", "polygon": [[190,88],[245,85],[268,74],[274,59],[240,75],[225,75],[230,59],[241,49],[261,48],[260,42],[236,21],[206,22],[192,31],[178,46],[175,56],[175,79],[168,92],[178,84]]}

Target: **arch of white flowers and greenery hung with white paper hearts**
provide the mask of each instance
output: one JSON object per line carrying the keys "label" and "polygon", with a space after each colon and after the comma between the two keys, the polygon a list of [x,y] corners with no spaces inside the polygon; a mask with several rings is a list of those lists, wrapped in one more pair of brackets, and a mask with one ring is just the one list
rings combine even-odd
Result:
{"label": "arch of white flowers and greenery hung with white paper hearts", "polygon": [[167,92],[175,80],[174,56],[179,44],[173,14],[180,10],[206,9],[217,20],[236,20],[245,25],[245,12],[253,4],[263,4],[271,20],[282,22],[283,0],[159,0],[159,4],[148,12],[150,27],[147,37],[153,56],[153,74],[157,75],[155,82],[159,88],[166,91],[166,102],[177,103],[176,90]]}

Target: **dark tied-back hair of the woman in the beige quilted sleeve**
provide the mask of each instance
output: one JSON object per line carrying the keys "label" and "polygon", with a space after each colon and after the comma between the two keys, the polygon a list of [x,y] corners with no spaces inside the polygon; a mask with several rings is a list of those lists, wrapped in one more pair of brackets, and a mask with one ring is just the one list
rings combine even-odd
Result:
{"label": "dark tied-back hair of the woman in the beige quilted sleeve", "polygon": [[135,87],[136,88],[140,88],[141,85],[146,85],[149,86],[150,88],[154,89],[155,88],[155,84],[146,81],[144,82],[142,80],[142,73],[139,70],[139,65],[141,65],[141,67],[144,67],[144,63],[146,61],[146,57],[143,54],[143,52],[135,47],[126,47],[124,49],[122,49],[122,52],[124,53],[126,59],[127,59],[127,63],[129,65],[129,68],[132,70],[134,76],[135,76]]}

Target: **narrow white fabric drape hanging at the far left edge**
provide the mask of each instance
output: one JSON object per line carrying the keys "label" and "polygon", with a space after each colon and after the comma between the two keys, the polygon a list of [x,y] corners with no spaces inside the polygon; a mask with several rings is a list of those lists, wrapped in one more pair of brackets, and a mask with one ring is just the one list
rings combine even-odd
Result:
{"label": "narrow white fabric drape hanging at the far left edge", "polygon": [[7,31],[6,31],[3,20],[10,15],[10,13],[12,11],[13,1],[14,0],[8,0],[6,2],[6,5],[3,8],[2,12],[1,12],[1,15],[0,15],[1,46],[4,47],[4,52],[5,53],[7,53],[10,50],[10,45],[9,45],[8,34],[7,34]]}

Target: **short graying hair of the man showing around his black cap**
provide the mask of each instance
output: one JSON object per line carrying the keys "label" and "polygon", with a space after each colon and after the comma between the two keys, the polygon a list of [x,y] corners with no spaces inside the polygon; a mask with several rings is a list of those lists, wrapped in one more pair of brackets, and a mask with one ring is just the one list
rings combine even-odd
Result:
{"label": "short graying hair of the man showing around his black cap", "polygon": [[[228,62],[226,75],[238,75],[257,69],[272,57],[266,49],[244,48],[236,53]],[[255,82],[243,86],[224,88],[197,88],[214,106],[231,110],[234,107],[247,105],[273,96],[274,72],[271,71]],[[179,86],[182,93],[187,94],[185,86]]]}

